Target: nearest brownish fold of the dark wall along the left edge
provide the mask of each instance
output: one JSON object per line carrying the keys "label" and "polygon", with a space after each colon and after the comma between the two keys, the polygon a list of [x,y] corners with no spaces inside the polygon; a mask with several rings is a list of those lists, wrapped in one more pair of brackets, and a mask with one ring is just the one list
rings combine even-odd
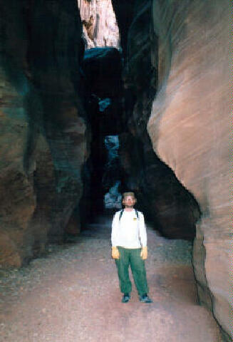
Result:
{"label": "nearest brownish fold of the dark wall along the left edge", "polygon": [[26,27],[20,6],[10,8],[1,4],[0,264],[18,267],[32,255],[29,222],[36,197],[32,172],[24,170],[29,132],[25,105],[29,82],[21,71],[26,66]]}

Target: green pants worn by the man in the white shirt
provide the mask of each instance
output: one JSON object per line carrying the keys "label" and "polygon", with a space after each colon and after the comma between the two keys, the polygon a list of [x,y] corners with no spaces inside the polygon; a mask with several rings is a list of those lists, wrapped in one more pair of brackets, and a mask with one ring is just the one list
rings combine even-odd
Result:
{"label": "green pants worn by the man in the white shirt", "polygon": [[118,247],[120,252],[120,259],[115,259],[115,264],[118,268],[118,277],[120,281],[120,291],[123,294],[130,294],[132,284],[129,277],[129,265],[132,270],[133,279],[135,282],[138,295],[148,293],[145,261],[140,257],[141,248],[128,249]]}

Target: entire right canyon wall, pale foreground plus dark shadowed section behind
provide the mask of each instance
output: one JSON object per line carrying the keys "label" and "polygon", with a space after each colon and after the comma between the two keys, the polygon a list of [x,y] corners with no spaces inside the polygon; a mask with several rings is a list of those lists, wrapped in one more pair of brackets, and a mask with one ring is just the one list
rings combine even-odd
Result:
{"label": "entire right canyon wall, pale foreground plus dark shadowed section behind", "polygon": [[[124,1],[113,0],[121,41],[127,41],[123,78],[125,125],[130,133],[126,130],[120,136],[125,185],[142,202],[143,197],[148,199],[150,204],[144,204],[148,214],[162,209],[161,220],[153,214],[150,217],[167,237],[182,237],[182,229],[188,227],[179,225],[183,217],[190,216],[193,224],[198,220],[193,261],[200,303],[213,312],[223,340],[231,341],[228,4],[132,0],[128,6],[129,21],[124,27]],[[156,155],[187,190],[186,201],[181,200],[180,205],[179,193],[184,192],[165,165],[155,161],[143,126],[147,126]],[[160,192],[166,180],[165,191]],[[177,221],[168,219],[172,215],[177,215]],[[167,223],[165,229],[162,222]],[[175,224],[178,231],[173,234]]]}

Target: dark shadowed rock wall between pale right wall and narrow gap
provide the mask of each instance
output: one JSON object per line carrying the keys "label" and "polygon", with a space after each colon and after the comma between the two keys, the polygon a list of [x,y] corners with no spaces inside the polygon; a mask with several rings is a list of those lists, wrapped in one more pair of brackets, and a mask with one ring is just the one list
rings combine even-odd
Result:
{"label": "dark shadowed rock wall between pale right wall and narrow gap", "polygon": [[[114,3],[114,2],[113,2]],[[121,5],[120,5],[121,4]],[[115,1],[123,28],[123,1]],[[134,190],[142,209],[164,236],[194,239],[199,208],[192,195],[155,155],[147,134],[152,100],[157,90],[157,36],[152,33],[152,1],[133,1],[128,12],[125,86],[125,131],[120,135],[120,163],[125,170],[123,189]],[[124,51],[123,51],[124,52]]]}

